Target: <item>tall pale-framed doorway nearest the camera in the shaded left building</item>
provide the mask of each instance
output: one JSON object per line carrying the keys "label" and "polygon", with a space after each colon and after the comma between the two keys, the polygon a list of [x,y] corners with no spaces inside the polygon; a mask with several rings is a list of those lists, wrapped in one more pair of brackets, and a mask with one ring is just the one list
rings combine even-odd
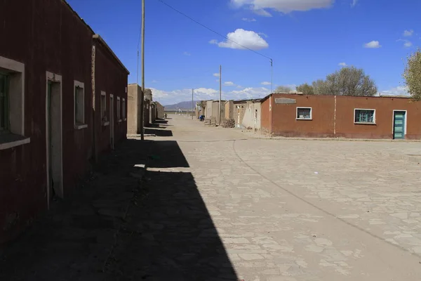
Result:
{"label": "tall pale-framed doorway nearest the camera in the shaded left building", "polygon": [[46,174],[48,208],[54,196],[63,197],[62,181],[62,87],[60,75],[47,72]]}

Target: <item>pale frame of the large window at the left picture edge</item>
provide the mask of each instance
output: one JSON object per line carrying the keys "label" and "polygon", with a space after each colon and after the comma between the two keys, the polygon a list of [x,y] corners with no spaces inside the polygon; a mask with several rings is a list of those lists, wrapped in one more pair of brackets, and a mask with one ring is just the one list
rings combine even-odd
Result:
{"label": "pale frame of the large window at the left picture edge", "polygon": [[25,64],[0,56],[0,70],[11,74],[8,79],[10,126],[8,132],[0,135],[0,150],[6,150],[30,143],[31,138],[25,137]]}

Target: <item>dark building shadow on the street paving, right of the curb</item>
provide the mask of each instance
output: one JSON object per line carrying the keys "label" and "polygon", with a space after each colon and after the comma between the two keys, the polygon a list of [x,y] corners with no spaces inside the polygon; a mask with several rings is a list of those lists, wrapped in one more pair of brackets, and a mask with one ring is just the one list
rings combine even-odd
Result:
{"label": "dark building shadow on the street paving, right of the curb", "polygon": [[109,270],[116,280],[238,280],[192,174],[164,169],[189,166],[178,143],[153,151],[147,200],[131,209]]}

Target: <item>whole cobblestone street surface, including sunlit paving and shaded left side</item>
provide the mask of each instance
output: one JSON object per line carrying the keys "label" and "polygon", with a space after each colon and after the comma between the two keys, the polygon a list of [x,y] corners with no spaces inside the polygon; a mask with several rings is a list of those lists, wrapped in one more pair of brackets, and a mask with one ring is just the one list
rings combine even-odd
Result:
{"label": "whole cobblestone street surface, including sunlit paving and shaded left side", "polygon": [[419,142],[170,117],[0,252],[0,280],[421,280]]}

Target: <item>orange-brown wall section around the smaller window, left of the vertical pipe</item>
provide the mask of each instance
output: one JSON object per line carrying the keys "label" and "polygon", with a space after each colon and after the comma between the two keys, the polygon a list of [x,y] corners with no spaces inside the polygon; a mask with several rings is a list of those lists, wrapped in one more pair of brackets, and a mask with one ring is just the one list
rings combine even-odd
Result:
{"label": "orange-brown wall section around the smaller window, left of the vertical pipe", "polygon": [[[297,103],[276,104],[276,98],[293,98]],[[312,107],[312,120],[297,120],[297,107]],[[333,137],[334,113],[334,96],[274,94],[271,132],[286,137]]]}

